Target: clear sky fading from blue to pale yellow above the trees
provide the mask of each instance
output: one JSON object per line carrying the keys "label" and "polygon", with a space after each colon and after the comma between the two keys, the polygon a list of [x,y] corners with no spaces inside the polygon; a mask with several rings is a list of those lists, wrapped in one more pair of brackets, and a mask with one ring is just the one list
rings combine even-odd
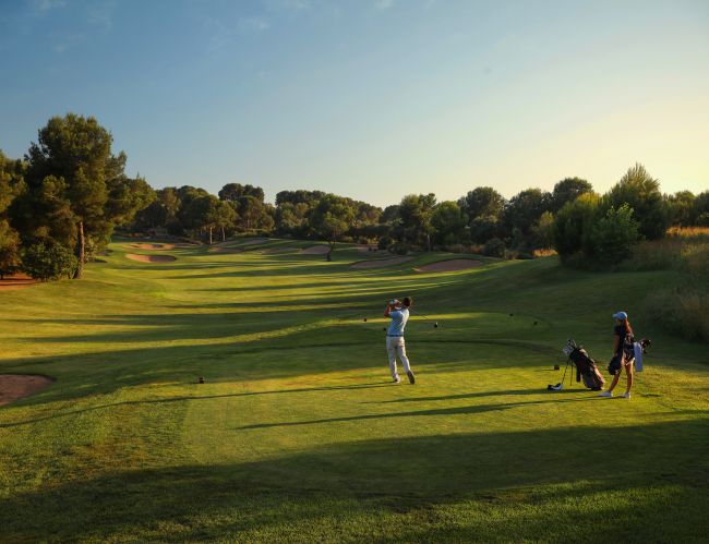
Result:
{"label": "clear sky fading from blue to pale yellow above the trees", "polygon": [[0,0],[0,55],[7,155],[94,116],[156,188],[709,189],[707,0]]}

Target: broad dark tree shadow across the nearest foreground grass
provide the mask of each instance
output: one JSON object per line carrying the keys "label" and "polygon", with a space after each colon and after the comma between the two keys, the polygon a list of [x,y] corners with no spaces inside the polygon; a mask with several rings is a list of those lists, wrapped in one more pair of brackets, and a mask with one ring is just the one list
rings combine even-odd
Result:
{"label": "broad dark tree shadow across the nearest foreground grass", "polygon": [[[701,541],[708,423],[372,439],[74,475],[8,493],[0,523],[10,542]],[[599,434],[614,446],[605,459],[593,459]],[[604,462],[618,451],[633,462]]]}

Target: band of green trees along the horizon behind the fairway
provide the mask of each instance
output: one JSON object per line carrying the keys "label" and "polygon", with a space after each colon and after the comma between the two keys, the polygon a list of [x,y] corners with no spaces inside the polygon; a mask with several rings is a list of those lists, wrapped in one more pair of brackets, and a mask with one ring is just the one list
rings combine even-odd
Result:
{"label": "band of green trees along the horizon behind the fairway", "polygon": [[94,118],[69,113],[39,130],[24,158],[0,152],[0,274],[23,269],[41,279],[80,278],[116,229],[188,237],[204,243],[238,233],[376,244],[382,250],[482,252],[530,257],[555,250],[567,264],[615,263],[670,226],[709,226],[709,191],[662,194],[635,165],[605,194],[566,178],[551,192],[512,198],[479,186],[457,201],[409,194],[381,208],[322,191],[281,191],[228,183],[217,195],[183,185],[154,190],[124,173],[127,156]]}

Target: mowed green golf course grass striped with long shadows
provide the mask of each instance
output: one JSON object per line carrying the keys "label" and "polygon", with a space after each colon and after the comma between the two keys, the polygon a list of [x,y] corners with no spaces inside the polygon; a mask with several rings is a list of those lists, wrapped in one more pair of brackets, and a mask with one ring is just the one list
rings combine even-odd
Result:
{"label": "mowed green golf course grass striped with long shadows", "polygon": [[[707,347],[642,316],[671,273],[131,243],[0,292],[0,373],[57,378],[0,408],[0,540],[707,539]],[[414,386],[382,331],[406,294],[441,324],[409,322]],[[653,342],[633,399],[546,391],[569,337],[606,375],[617,310]]]}

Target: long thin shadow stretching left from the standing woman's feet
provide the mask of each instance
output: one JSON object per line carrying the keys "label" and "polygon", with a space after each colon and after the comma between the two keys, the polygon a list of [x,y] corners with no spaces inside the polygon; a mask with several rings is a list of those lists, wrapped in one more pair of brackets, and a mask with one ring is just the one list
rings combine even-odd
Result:
{"label": "long thin shadow stretching left from the standing woman's feet", "polygon": [[[421,400],[421,399],[411,399],[411,400]],[[512,408],[522,408],[522,407],[534,406],[534,404],[550,404],[550,403],[560,403],[560,402],[582,402],[588,400],[596,400],[596,399],[593,397],[584,397],[580,399],[549,399],[549,400],[532,400],[529,402],[502,402],[498,404],[474,404],[469,407],[438,408],[438,409],[419,410],[419,411],[411,411],[411,412],[376,413],[376,414],[364,414],[364,415],[349,415],[344,418],[326,418],[322,420],[292,421],[292,422],[281,422],[281,423],[256,423],[253,425],[244,425],[241,427],[236,427],[235,430],[245,431],[252,428],[290,427],[290,426],[298,426],[298,425],[315,425],[319,423],[380,420],[380,419],[387,419],[387,418],[406,418],[406,416],[420,416],[420,415],[479,414],[485,412],[497,412],[502,410],[509,410]]]}

